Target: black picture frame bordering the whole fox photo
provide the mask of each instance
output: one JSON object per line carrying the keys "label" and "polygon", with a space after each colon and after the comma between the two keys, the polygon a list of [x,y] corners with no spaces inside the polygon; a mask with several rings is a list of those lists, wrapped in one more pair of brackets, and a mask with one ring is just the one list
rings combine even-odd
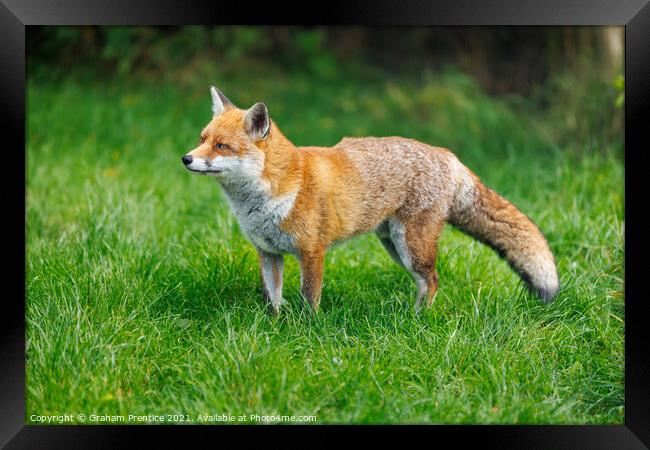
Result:
{"label": "black picture frame bordering the whole fox photo", "polygon": [[[25,425],[25,35],[30,25],[623,25],[625,26],[625,424],[620,426],[396,426],[396,427],[177,427]],[[339,445],[340,430],[368,436],[404,435],[410,442],[479,443],[499,448],[640,449],[650,447],[650,327],[643,323],[644,124],[650,117],[650,6],[647,0],[335,0],[304,4],[268,1],[2,0],[0,3],[0,111],[5,172],[2,178],[5,287],[0,360],[0,445],[7,448],[116,448],[147,437],[168,440],[193,434],[215,444],[242,445],[259,433],[323,431],[320,444]],[[7,139],[9,138],[9,139]],[[19,157],[19,155],[21,155]],[[27,162],[25,161],[25,164]],[[20,194],[23,193],[23,195]],[[634,203],[641,203],[634,204]],[[25,245],[18,236],[23,236]],[[18,263],[21,262],[22,264]],[[638,263],[637,263],[638,262]],[[8,289],[9,287],[10,289]],[[181,433],[179,433],[181,431]],[[220,434],[219,437],[213,436]],[[229,435],[229,436],[224,436]],[[215,440],[218,439],[218,440]],[[152,441],[150,441],[152,442]],[[269,441],[271,442],[271,441]],[[307,442],[296,441],[307,445]],[[310,441],[311,442],[311,441]],[[282,444],[290,445],[285,440]],[[268,444],[268,442],[267,442]],[[294,444],[295,445],[295,444]]]}

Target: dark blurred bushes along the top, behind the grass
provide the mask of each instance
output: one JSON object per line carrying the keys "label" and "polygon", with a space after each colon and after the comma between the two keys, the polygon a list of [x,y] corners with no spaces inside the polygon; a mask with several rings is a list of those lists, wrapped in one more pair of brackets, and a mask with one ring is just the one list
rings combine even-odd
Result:
{"label": "dark blurred bushes along the top, behind the grass", "polygon": [[193,86],[298,72],[423,82],[451,70],[538,113],[559,147],[602,151],[622,143],[622,42],[620,27],[84,26],[30,28],[27,45],[37,81]]}

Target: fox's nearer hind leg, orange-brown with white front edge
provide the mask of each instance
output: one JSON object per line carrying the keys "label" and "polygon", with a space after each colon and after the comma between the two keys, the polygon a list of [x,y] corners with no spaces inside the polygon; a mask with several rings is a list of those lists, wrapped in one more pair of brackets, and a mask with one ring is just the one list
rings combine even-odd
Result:
{"label": "fox's nearer hind leg, orange-brown with white front edge", "polygon": [[443,216],[433,210],[389,220],[390,240],[418,288],[416,311],[430,308],[438,290],[436,255],[444,224]]}

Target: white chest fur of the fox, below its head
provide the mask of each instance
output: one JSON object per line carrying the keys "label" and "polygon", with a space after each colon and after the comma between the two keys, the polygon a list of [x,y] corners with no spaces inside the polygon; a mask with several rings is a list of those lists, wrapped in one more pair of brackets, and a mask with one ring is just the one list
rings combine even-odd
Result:
{"label": "white chest fur of the fox, below its head", "polygon": [[233,213],[248,239],[269,253],[295,253],[293,238],[280,224],[289,215],[297,192],[272,197],[263,186],[225,186]]}

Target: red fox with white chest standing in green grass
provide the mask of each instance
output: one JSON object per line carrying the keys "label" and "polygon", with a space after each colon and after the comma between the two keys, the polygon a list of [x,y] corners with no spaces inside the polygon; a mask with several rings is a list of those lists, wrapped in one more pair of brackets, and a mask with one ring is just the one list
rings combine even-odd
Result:
{"label": "red fox with white chest standing in green grass", "polygon": [[257,251],[273,314],[285,302],[285,255],[298,259],[300,293],[318,311],[326,251],[369,232],[413,277],[416,311],[431,308],[446,223],[494,249],[541,301],[555,298],[558,271],[537,225],[450,150],[403,137],[345,137],[332,147],[298,147],[271,120],[265,103],[240,109],[216,87],[210,94],[212,118],[181,160],[221,186]]}

